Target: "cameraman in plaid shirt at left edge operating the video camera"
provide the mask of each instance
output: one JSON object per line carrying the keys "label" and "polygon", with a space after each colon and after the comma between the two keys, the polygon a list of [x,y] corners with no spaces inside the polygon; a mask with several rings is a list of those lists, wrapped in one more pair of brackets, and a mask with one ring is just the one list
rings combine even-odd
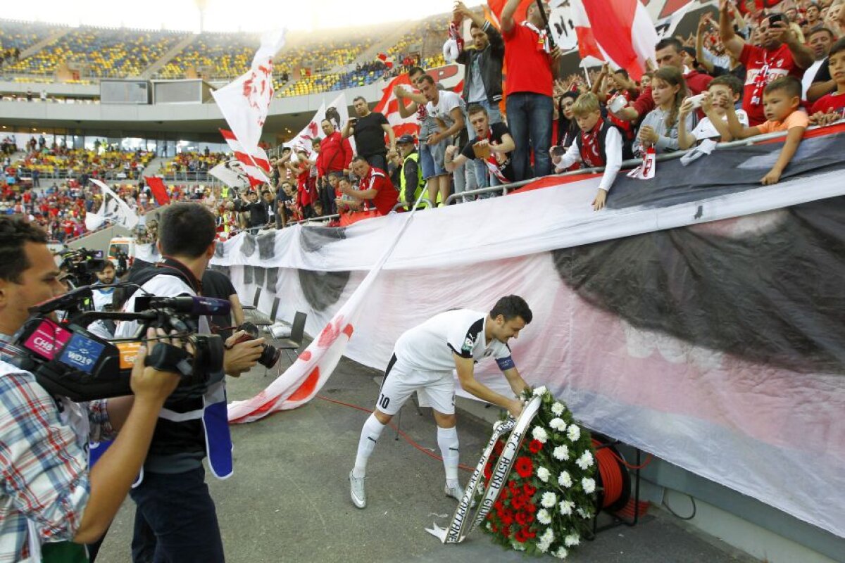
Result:
{"label": "cameraman in plaid shirt at left edge operating the video camera", "polygon": [[[81,544],[105,532],[138,475],[156,416],[179,376],[144,368],[141,348],[132,371],[134,397],[72,403],[52,397],[20,369],[11,336],[29,307],[64,293],[42,230],[0,218],[0,560],[85,557]],[[155,336],[151,333],[149,336]],[[89,438],[112,447],[89,471]],[[42,542],[50,542],[41,546]],[[85,560],[85,559],[81,559]]]}

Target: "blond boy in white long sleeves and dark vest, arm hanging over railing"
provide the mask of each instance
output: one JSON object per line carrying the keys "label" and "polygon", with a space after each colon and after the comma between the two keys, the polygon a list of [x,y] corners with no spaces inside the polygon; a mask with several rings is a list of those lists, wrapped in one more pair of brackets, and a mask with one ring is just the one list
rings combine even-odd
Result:
{"label": "blond boy in white long sleeves and dark vest, arm hanging over railing", "polygon": [[565,154],[561,154],[560,147],[553,147],[549,154],[552,155],[555,172],[564,171],[576,162],[581,162],[585,168],[604,166],[604,176],[592,202],[593,210],[598,211],[604,207],[610,187],[622,168],[622,133],[602,119],[598,98],[591,92],[578,96],[572,105],[572,115],[581,128],[581,134]]}

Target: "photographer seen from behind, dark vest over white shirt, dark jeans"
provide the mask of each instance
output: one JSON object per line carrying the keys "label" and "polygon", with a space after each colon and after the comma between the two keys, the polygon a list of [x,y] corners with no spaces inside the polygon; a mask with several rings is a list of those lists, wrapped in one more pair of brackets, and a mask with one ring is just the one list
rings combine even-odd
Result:
{"label": "photographer seen from behind, dark vest over white shirt, dark jeans", "polygon": [[[199,295],[205,268],[215,251],[214,215],[199,203],[174,203],[161,214],[158,246],[164,260],[134,273],[129,281],[152,295]],[[140,290],[139,290],[140,291]],[[135,296],[125,311],[134,311]],[[131,336],[135,322],[120,322],[117,337]],[[209,320],[199,319],[199,333],[209,333]],[[245,333],[226,340],[224,370],[231,376],[252,368],[261,355],[263,338],[234,344]],[[232,441],[226,420],[226,387],[222,373],[188,398],[172,398],[161,410],[144,474],[130,495],[137,505],[133,560],[190,563],[223,561],[223,543],[214,501],[204,481],[202,460],[223,479],[232,474]],[[206,436],[209,437],[206,440]]]}

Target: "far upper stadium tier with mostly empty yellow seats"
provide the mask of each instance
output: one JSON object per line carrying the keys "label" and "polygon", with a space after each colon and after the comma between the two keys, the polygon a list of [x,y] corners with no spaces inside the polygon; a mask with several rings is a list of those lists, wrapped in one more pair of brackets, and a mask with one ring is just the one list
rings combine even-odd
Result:
{"label": "far upper stadium tier with mostly empty yellow seats", "polygon": [[[396,24],[359,30],[357,35],[336,32],[294,38],[275,59],[277,95],[319,94],[372,84],[385,73],[395,73],[403,62],[438,66],[443,63],[440,49],[448,21],[449,16],[442,14],[424,19],[392,44],[385,38],[391,32],[401,33]],[[139,76],[221,81],[246,72],[258,46],[257,34],[190,35],[0,20],[0,76],[33,82]],[[379,52],[386,53],[393,69],[379,61]]]}

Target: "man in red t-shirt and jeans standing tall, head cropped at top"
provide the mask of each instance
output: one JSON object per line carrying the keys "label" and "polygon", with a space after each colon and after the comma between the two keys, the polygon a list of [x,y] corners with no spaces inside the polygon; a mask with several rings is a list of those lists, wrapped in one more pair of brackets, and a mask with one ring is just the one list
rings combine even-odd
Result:
{"label": "man in red t-shirt and jeans standing tall, head cropped at top", "polygon": [[[554,113],[553,62],[560,56],[551,48],[543,25],[539,3],[526,11],[526,21],[516,22],[514,14],[521,0],[508,0],[502,9],[504,90],[508,127],[514,138],[514,176],[517,181],[552,173],[548,149],[552,144]],[[534,152],[534,170],[530,154]]]}

